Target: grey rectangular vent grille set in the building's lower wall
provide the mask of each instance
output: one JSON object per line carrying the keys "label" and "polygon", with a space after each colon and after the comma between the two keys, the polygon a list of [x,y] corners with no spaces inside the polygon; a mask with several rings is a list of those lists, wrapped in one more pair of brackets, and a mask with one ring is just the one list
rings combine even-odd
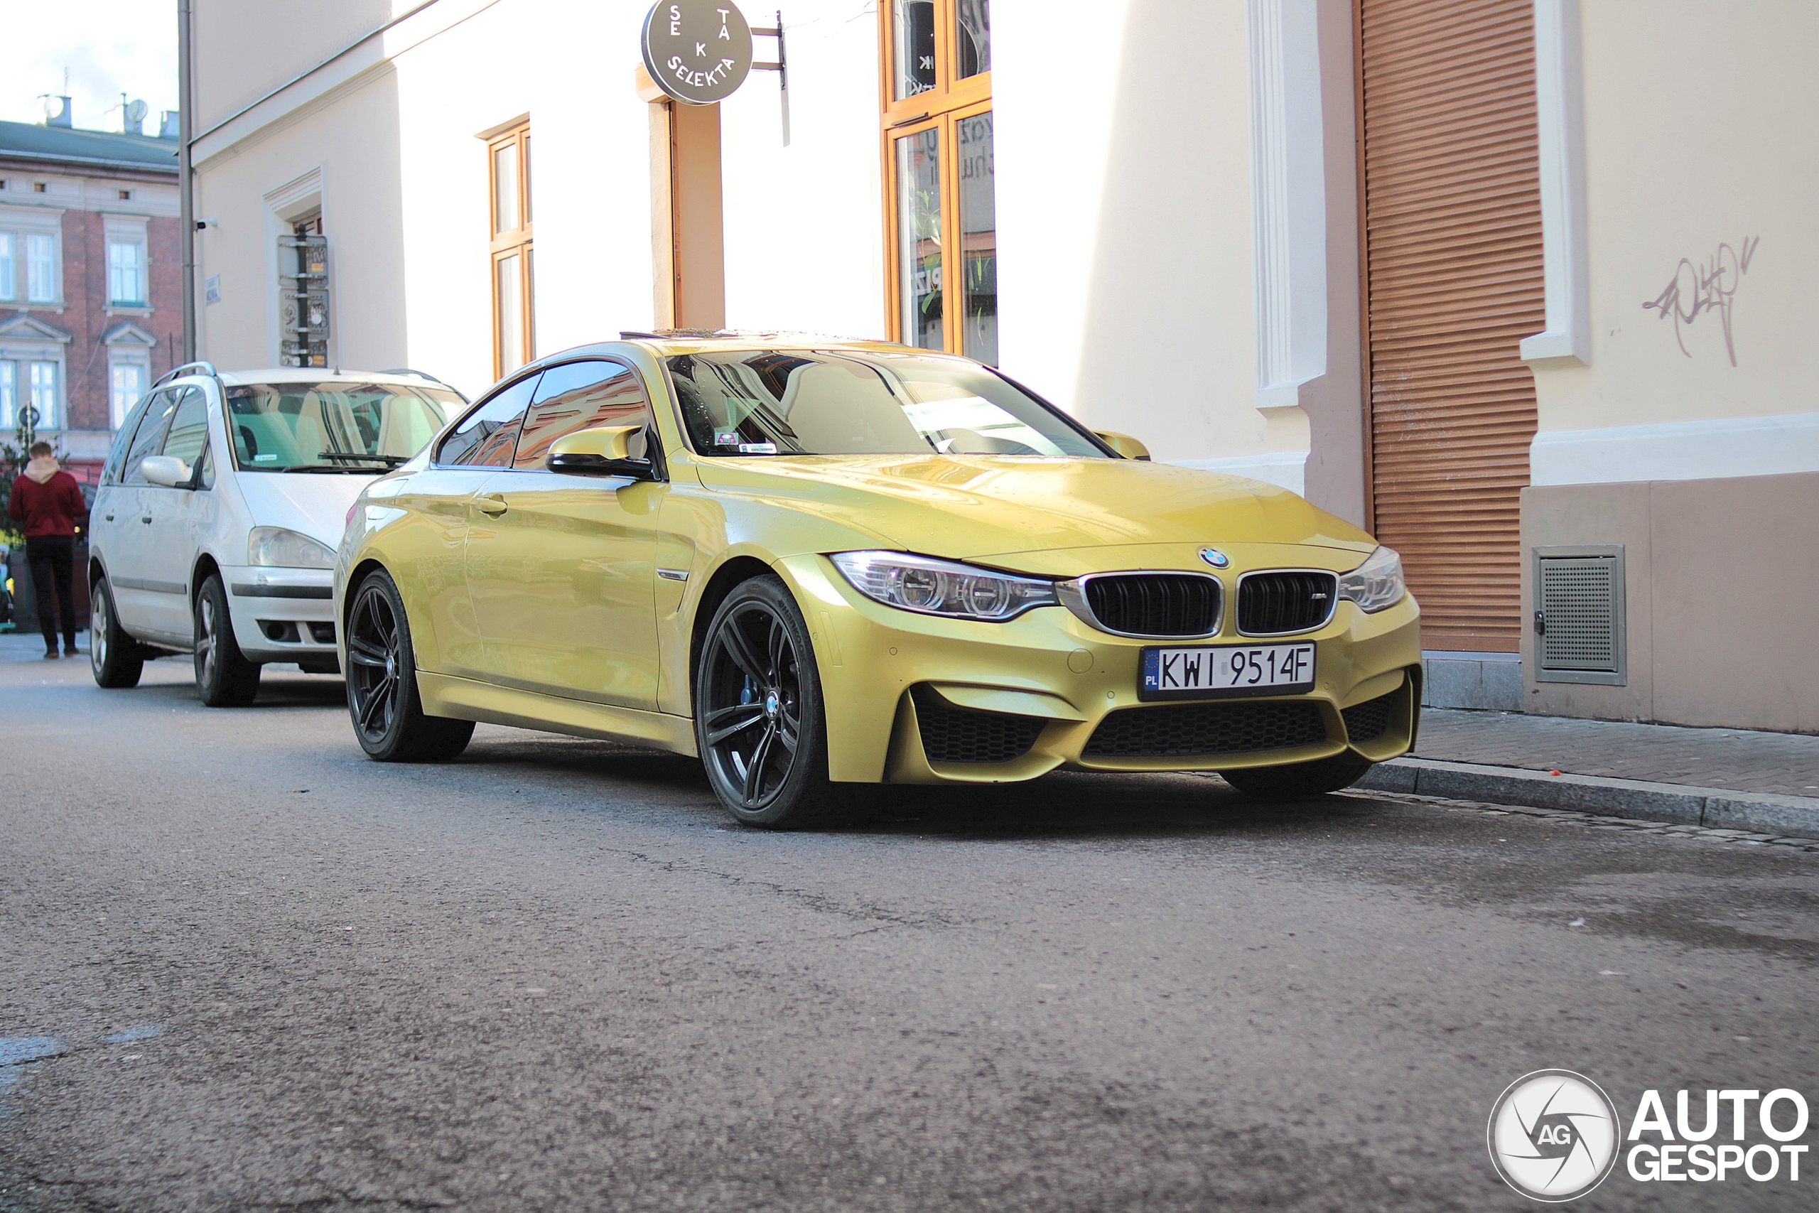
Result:
{"label": "grey rectangular vent grille set in the building's lower wall", "polygon": [[1535,682],[1624,686],[1623,546],[1535,549]]}

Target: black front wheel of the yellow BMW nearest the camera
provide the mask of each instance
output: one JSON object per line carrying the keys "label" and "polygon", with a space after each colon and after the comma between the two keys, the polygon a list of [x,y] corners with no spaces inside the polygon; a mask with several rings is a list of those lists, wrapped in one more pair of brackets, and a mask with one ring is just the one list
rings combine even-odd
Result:
{"label": "black front wheel of the yellow BMW nearest the camera", "polygon": [[695,744],[720,804],[746,826],[802,829],[859,815],[848,797],[862,798],[860,787],[828,782],[815,651],[802,611],[775,576],[737,586],[708,624]]}

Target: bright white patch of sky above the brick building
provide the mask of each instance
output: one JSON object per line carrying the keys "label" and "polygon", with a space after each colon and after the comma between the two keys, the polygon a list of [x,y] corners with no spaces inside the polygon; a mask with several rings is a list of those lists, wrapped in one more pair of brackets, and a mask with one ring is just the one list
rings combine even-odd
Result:
{"label": "bright white patch of sky above the brick building", "polygon": [[13,47],[0,120],[44,122],[40,93],[67,93],[75,124],[89,131],[120,129],[120,93],[146,102],[146,135],[158,133],[160,111],[176,109],[175,0],[0,0],[0,27]]}

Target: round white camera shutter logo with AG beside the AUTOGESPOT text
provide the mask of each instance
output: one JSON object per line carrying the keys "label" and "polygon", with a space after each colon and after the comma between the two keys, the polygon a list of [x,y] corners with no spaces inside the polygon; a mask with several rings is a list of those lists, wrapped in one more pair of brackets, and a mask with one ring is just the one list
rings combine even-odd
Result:
{"label": "round white camera shutter logo with AG beside the AUTOGESPOT text", "polygon": [[1617,1106],[1584,1075],[1537,1069],[1497,1097],[1486,1140],[1502,1182],[1552,1204],[1604,1182],[1617,1166],[1623,1124]]}

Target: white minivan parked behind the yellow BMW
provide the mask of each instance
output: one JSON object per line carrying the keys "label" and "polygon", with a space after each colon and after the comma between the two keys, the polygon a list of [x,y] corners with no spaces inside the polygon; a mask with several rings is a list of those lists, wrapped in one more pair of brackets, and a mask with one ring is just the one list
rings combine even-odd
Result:
{"label": "white minivan parked behind the yellow BMW", "polygon": [[211,707],[266,662],[337,673],[335,547],[367,484],[466,404],[420,371],[218,373],[153,384],[115,438],[89,518],[89,655],[104,687],[193,653]]}

